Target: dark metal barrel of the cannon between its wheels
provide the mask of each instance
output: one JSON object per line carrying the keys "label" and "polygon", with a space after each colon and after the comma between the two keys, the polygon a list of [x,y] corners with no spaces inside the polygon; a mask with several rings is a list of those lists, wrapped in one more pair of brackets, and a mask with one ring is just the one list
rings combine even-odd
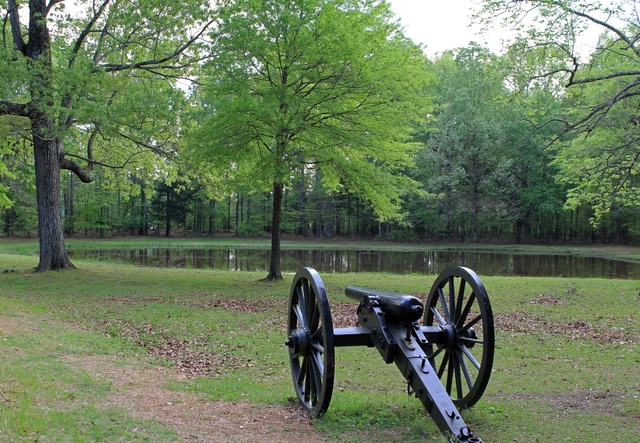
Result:
{"label": "dark metal barrel of the cannon between its wheels", "polygon": [[362,300],[365,296],[371,300],[376,300],[385,314],[409,323],[418,321],[424,313],[423,303],[413,295],[378,291],[354,285],[347,286],[344,293],[347,297],[355,300]]}

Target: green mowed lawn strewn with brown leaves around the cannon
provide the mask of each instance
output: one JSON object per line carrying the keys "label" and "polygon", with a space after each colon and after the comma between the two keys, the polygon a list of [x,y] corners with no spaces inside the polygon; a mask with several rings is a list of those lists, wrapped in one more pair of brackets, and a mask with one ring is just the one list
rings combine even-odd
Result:
{"label": "green mowed lawn strewn with brown leaves around the cannon", "polygon": [[[111,386],[70,356],[177,367],[190,377],[171,388],[211,401],[292,402],[283,344],[292,275],[263,283],[264,274],[92,262],[34,274],[36,264],[0,255],[0,271],[23,271],[0,274],[0,441],[176,441],[166,423],[104,406]],[[463,412],[471,429],[487,443],[638,441],[640,282],[481,277],[497,344],[489,387]],[[424,299],[435,276],[322,278],[344,306],[348,284]],[[326,440],[444,441],[374,349],[338,348],[336,367],[331,407],[314,422]]]}

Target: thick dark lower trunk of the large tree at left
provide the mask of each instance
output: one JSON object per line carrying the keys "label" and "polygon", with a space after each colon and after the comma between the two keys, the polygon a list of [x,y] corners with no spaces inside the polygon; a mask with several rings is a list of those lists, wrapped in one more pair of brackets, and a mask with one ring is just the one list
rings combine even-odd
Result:
{"label": "thick dark lower trunk of the large tree at left", "polygon": [[40,263],[37,272],[75,268],[67,255],[60,211],[60,142],[52,134],[52,123],[41,117],[32,120],[36,168],[36,204]]}

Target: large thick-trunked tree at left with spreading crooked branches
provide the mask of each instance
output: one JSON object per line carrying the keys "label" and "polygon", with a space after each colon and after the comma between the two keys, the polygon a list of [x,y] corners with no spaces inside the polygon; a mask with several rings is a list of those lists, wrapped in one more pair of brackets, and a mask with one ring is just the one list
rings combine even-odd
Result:
{"label": "large thick-trunked tree at left with spreading crooked branches", "polygon": [[193,0],[103,0],[73,14],[64,5],[2,3],[0,115],[30,122],[37,271],[73,267],[60,213],[61,170],[90,182],[96,164],[144,167],[170,149],[181,96],[173,84],[208,26],[207,8]]}

